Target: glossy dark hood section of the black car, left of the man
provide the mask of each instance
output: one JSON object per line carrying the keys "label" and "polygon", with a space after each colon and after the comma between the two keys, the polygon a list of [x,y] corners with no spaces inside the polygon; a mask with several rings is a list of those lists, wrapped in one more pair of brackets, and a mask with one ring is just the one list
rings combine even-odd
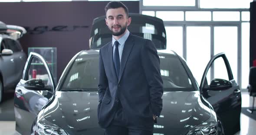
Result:
{"label": "glossy dark hood section of the black car, left of the man", "polygon": [[60,126],[69,128],[96,128],[98,92],[56,91],[53,102],[44,110],[44,117]]}

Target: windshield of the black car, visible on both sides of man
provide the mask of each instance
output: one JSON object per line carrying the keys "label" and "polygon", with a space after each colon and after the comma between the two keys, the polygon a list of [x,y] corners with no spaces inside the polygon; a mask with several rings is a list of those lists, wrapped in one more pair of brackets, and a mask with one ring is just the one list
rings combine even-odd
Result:
{"label": "windshield of the black car, visible on both sides of man", "polygon": [[[194,91],[190,78],[174,55],[159,55],[164,91]],[[98,91],[98,55],[75,59],[60,90]]]}

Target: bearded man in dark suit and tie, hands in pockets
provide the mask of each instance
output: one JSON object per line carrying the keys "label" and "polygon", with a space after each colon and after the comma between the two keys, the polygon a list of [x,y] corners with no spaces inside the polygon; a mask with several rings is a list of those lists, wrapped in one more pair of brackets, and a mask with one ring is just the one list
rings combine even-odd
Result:
{"label": "bearded man in dark suit and tie, hands in pockets", "polygon": [[105,135],[153,135],[163,95],[157,50],[128,31],[123,3],[109,2],[105,11],[113,36],[99,52],[98,123]]}

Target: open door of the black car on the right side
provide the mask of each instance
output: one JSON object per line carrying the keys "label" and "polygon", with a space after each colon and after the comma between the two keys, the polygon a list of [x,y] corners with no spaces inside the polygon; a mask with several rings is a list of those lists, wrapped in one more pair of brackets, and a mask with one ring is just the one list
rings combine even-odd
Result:
{"label": "open door of the black car on the right side", "polygon": [[[210,69],[214,68],[213,80],[209,81]],[[207,74],[209,73],[209,74]],[[200,84],[202,96],[213,106],[221,129],[226,135],[240,131],[241,93],[233,78],[230,64],[224,53],[219,53],[207,64]],[[220,129],[220,130],[221,130]]]}

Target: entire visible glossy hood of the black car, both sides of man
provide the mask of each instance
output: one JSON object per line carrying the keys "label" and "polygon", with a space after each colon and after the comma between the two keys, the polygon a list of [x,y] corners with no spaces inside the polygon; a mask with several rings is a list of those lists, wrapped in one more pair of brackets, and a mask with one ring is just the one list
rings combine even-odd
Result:
{"label": "entire visible glossy hood of the black car, both sides of man", "polygon": [[[98,129],[97,106],[97,92],[57,91],[53,102],[44,109],[44,116],[67,132],[79,135],[103,132]],[[154,133],[186,134],[189,128],[209,119],[210,115],[209,107],[201,102],[199,91],[164,92],[163,110],[154,125]]]}

